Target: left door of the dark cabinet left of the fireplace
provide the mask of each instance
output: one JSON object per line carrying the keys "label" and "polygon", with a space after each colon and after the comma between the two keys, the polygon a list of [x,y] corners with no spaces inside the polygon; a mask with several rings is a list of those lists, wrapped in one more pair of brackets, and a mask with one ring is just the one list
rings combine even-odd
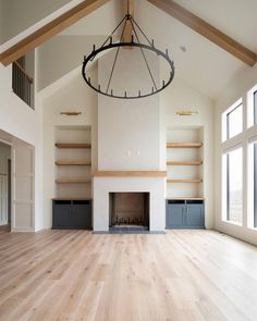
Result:
{"label": "left door of the dark cabinet left of the fireplace", "polygon": [[52,229],[71,227],[70,205],[53,205],[52,210]]}

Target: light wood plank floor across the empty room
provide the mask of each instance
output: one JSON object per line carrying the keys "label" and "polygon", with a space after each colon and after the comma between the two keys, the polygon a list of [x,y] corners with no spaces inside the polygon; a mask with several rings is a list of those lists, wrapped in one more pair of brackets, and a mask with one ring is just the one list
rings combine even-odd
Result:
{"label": "light wood plank floor across the empty room", "polygon": [[257,247],[211,231],[0,231],[0,320],[257,320]]}

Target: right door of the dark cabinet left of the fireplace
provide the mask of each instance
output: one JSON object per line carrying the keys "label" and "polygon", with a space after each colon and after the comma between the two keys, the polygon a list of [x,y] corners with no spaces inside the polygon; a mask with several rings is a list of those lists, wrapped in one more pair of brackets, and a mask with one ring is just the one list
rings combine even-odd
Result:
{"label": "right door of the dark cabinet left of the fireplace", "polygon": [[90,205],[73,205],[72,226],[75,229],[91,229]]}

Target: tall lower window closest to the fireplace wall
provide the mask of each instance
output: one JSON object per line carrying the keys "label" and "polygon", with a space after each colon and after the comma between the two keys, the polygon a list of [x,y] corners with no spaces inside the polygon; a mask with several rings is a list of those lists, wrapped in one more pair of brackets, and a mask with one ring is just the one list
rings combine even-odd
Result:
{"label": "tall lower window closest to the fireplace wall", "polygon": [[242,224],[243,222],[243,148],[234,149],[224,155],[225,166],[224,185],[225,190],[225,219]]}

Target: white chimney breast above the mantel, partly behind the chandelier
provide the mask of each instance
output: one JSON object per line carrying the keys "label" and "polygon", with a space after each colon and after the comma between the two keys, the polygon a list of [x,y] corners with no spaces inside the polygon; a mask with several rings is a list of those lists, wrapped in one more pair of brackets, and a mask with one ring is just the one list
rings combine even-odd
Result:
{"label": "white chimney breast above the mantel, partly behind the chandelier", "polygon": [[[148,57],[159,82],[159,63]],[[106,88],[113,53],[100,58],[98,79]],[[155,64],[154,64],[155,62]],[[152,84],[138,50],[122,50],[110,88],[114,95],[137,95],[151,90]],[[124,87],[126,84],[126,87]],[[136,89],[133,91],[133,89]],[[160,170],[160,106],[159,95],[123,100],[98,96],[98,169]]]}

